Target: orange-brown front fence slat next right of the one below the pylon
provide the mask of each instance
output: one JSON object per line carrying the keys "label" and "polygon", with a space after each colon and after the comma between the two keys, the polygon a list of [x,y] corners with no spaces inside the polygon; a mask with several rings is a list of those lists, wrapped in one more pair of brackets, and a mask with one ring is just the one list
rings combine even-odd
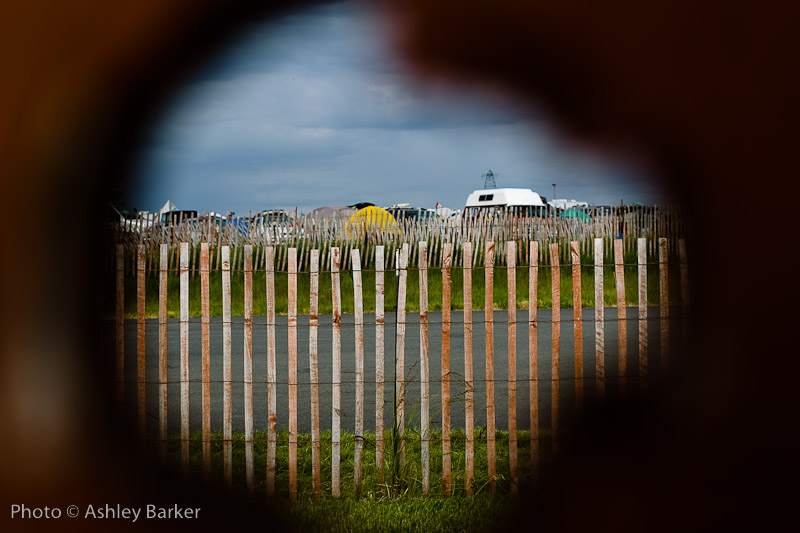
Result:
{"label": "orange-brown front fence slat next right of the one below the pylon", "polygon": [[517,243],[506,243],[508,279],[508,464],[511,495],[519,491],[517,473]]}

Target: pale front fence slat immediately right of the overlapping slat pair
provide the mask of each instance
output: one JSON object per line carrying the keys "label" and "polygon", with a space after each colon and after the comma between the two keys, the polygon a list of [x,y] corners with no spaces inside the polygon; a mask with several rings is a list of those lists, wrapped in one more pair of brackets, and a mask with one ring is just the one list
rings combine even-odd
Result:
{"label": "pale front fence slat immediately right of the overlapping slat pair", "polygon": [[430,359],[428,354],[428,243],[419,243],[419,357],[420,357],[420,430],[422,442],[422,494],[431,488],[430,457]]}

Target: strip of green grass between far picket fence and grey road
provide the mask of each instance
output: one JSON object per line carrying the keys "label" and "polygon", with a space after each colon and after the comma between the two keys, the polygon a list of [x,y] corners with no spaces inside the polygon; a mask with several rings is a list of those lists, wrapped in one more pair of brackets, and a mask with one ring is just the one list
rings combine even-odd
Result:
{"label": "strip of green grass between far picket fence and grey road", "polygon": [[[586,256],[581,258],[584,265],[581,267],[581,305],[584,307],[594,306],[594,266],[591,266],[593,259]],[[638,267],[636,266],[636,255],[628,252],[624,259],[626,266],[625,272],[625,299],[629,306],[638,305]],[[654,258],[648,258],[649,262],[654,262]],[[605,259],[606,264],[612,262],[611,258]],[[561,307],[572,307],[572,266],[561,266]],[[364,311],[374,312],[375,310],[375,273],[364,271],[362,273]],[[522,266],[516,269],[517,281],[517,308],[528,309],[528,267]],[[135,318],[136,310],[136,276],[127,275],[125,278],[125,317]],[[309,312],[309,286],[310,275],[308,273],[298,274],[298,312],[308,314]],[[353,277],[351,272],[340,274],[342,308],[345,313],[353,312]],[[397,302],[397,283],[398,278],[394,271],[387,271],[385,274],[385,310],[387,312],[396,311]],[[157,273],[148,273],[145,279],[146,293],[146,316],[155,318],[158,316],[158,286],[159,278]],[[105,300],[105,316],[112,317],[115,313],[114,308],[114,285],[113,280],[107,282],[106,294],[109,298]],[[452,269],[451,285],[451,308],[454,310],[464,309],[463,293],[463,270],[461,268]],[[222,274],[219,271],[210,273],[209,276],[210,313],[211,316],[222,316]],[[328,273],[320,274],[319,279],[319,311],[323,314],[331,312],[331,276]],[[288,309],[288,274],[278,272],[275,274],[275,312],[285,314]],[[168,302],[167,314],[169,317],[180,316],[180,279],[174,272],[168,276]],[[483,268],[475,268],[472,271],[472,309],[481,310],[484,308],[485,295],[485,271]],[[680,303],[680,269],[676,260],[669,263],[669,303],[677,305]],[[607,306],[616,306],[616,286],[614,282],[614,267],[607,266],[603,274],[603,301]],[[495,309],[506,309],[508,306],[508,285],[507,270],[505,267],[495,267],[494,269],[494,292],[493,302]],[[647,269],[647,303],[648,305],[658,305],[660,303],[659,294],[659,273],[658,265],[650,264]],[[537,306],[539,308],[552,307],[551,289],[551,268],[549,265],[542,265],[539,268],[537,283]],[[431,268],[428,271],[428,308],[431,311],[439,311],[442,308],[442,274],[438,268]],[[407,277],[407,296],[406,310],[419,311],[419,271],[409,270]],[[244,274],[242,272],[231,273],[231,312],[233,316],[244,314]],[[263,271],[253,273],[253,313],[254,315],[265,315],[266,306],[266,274]],[[198,317],[201,315],[200,308],[200,276],[193,272],[189,281],[189,315]]]}

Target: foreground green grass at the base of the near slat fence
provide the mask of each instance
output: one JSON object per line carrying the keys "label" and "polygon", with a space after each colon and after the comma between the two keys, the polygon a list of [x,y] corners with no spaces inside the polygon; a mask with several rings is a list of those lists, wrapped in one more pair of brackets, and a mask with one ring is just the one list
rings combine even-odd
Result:
{"label": "foreground green grass at the base of the near slat fence", "polygon": [[[390,431],[386,432],[385,447],[389,447]],[[289,503],[289,448],[288,432],[278,434],[276,453],[275,502],[276,508],[294,527],[301,531],[487,531],[495,527],[510,509],[511,485],[508,463],[508,433],[496,432],[496,481],[497,495],[488,495],[486,430],[476,428],[474,496],[467,497],[464,482],[464,444],[463,430],[451,432],[452,487],[451,498],[442,494],[442,447],[441,431],[431,432],[431,490],[422,495],[421,459],[419,430],[409,429],[406,433],[406,464],[408,465],[408,484],[401,495],[393,494],[385,485],[377,481],[375,465],[375,434],[364,437],[362,462],[362,493],[356,497],[353,482],[354,438],[351,433],[342,433],[341,445],[341,494],[331,497],[331,432],[321,436],[321,479],[322,498],[313,498],[311,469],[311,437],[298,436],[298,498]],[[540,460],[548,461],[552,456],[549,432],[540,432]],[[245,484],[245,442],[244,435],[233,435],[233,477],[234,490],[246,490]],[[256,501],[266,498],[266,432],[254,435],[255,487],[253,497]],[[178,465],[180,461],[180,440],[170,437],[168,442],[170,461]],[[223,443],[221,434],[211,437],[212,481],[223,482]],[[388,452],[386,454],[387,461]],[[529,481],[530,433],[518,432],[518,457],[520,487],[524,489]],[[195,475],[202,472],[202,442],[200,434],[191,436],[190,470]],[[386,467],[388,472],[388,465]]]}

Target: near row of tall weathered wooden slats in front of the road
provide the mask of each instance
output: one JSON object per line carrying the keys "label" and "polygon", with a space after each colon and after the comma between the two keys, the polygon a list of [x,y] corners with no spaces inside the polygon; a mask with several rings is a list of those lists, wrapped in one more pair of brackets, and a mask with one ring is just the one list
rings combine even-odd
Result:
{"label": "near row of tall weathered wooden slats in front of the road", "polygon": [[[552,280],[552,397],[551,432],[554,451],[559,439],[559,360],[561,341],[560,315],[560,265],[558,243],[550,244],[551,280]],[[646,239],[638,240],[638,294],[639,294],[639,375],[642,383],[646,383],[648,372],[647,347],[647,263]],[[442,264],[442,476],[443,494],[452,493],[451,486],[451,442],[450,442],[450,280],[453,264],[453,244],[443,246],[444,261]],[[661,238],[659,249],[659,290],[660,290],[660,334],[661,361],[669,362],[669,307],[668,307],[668,271],[667,271],[667,239]],[[159,268],[159,393],[158,393],[158,428],[162,457],[167,455],[167,258],[169,250],[166,244],[160,248]],[[575,395],[576,406],[580,410],[583,405],[583,324],[581,305],[580,252],[578,242],[570,246],[572,259],[572,286],[574,305],[574,338],[575,338]],[[180,442],[181,468],[184,474],[189,472],[189,269],[188,243],[180,244]],[[395,339],[395,413],[393,421],[399,431],[400,460],[405,460],[404,409],[404,350],[406,326],[406,285],[409,247],[404,244],[397,251],[398,257],[398,306]],[[516,243],[509,241],[506,247],[508,283],[508,309],[516,309]],[[233,454],[232,454],[232,394],[231,394],[231,289],[230,289],[230,248],[223,246],[222,257],[222,349],[223,349],[223,472],[228,488],[232,487]],[[289,362],[289,495],[292,500],[297,497],[297,249],[288,251],[288,362]],[[321,496],[320,474],[320,409],[319,409],[319,250],[311,250],[310,261],[310,316],[309,316],[309,366],[311,383],[311,450],[312,450],[312,484],[315,498]],[[363,434],[364,434],[364,316],[362,300],[361,259],[357,248],[351,250],[353,268],[354,306],[355,306],[355,454],[354,482],[356,491],[360,492],[362,482]],[[331,285],[333,299],[332,320],[332,443],[331,443],[331,495],[341,494],[341,287],[340,287],[340,250],[331,249]],[[623,275],[623,244],[617,239],[614,243],[614,272],[617,291],[617,327],[618,327],[618,377],[621,393],[624,394],[627,381],[627,319],[625,302],[625,280]],[[246,484],[252,491],[255,484],[254,451],[253,451],[253,249],[244,247],[244,420],[245,420],[245,471]],[[275,278],[274,249],[265,250],[266,265],[266,302],[267,302],[267,394],[268,394],[268,447],[266,466],[267,495],[275,494],[276,446],[277,446],[277,409],[276,409],[276,351],[275,351]],[[463,243],[463,264],[472,263],[472,243]],[[686,333],[686,317],[688,316],[688,271],[686,263],[686,247],[679,241],[679,259],[681,268],[681,302],[683,306],[684,334]],[[530,392],[530,461],[531,476],[536,477],[539,469],[539,412],[538,412],[538,349],[537,349],[537,291],[539,270],[538,243],[533,241],[529,247],[529,315],[528,315],[528,364]],[[124,393],[124,248],[117,247],[117,306],[116,306],[116,363],[118,398],[120,402]],[[142,435],[146,425],[145,402],[145,247],[140,246],[137,253],[137,400],[138,426]],[[605,395],[605,319],[603,304],[603,239],[594,241],[594,282],[595,282],[595,380],[598,399]],[[427,243],[419,243],[419,313],[420,313],[420,363],[421,363],[421,462],[422,491],[430,490],[430,376],[428,346],[428,291],[427,291]],[[375,361],[376,361],[376,471],[378,483],[384,483],[384,247],[375,249]],[[464,268],[463,293],[464,302],[472,301],[472,270]],[[493,283],[494,283],[494,243],[486,243],[484,258],[485,273],[485,342],[486,342],[486,410],[487,410],[487,462],[489,492],[496,491],[496,442],[495,442],[495,390],[494,390],[494,324],[493,324]],[[209,344],[209,246],[202,243],[200,249],[200,284],[201,284],[201,335],[202,335],[202,444],[203,473],[206,478],[211,471],[211,387],[210,387],[210,344]],[[471,306],[464,310],[464,378],[465,378],[465,491],[473,492],[475,461],[475,428],[473,408],[473,354],[472,331],[473,319]],[[509,469],[511,493],[516,494],[519,486],[517,458],[517,415],[516,415],[516,313],[508,314],[508,430],[509,430]]]}

